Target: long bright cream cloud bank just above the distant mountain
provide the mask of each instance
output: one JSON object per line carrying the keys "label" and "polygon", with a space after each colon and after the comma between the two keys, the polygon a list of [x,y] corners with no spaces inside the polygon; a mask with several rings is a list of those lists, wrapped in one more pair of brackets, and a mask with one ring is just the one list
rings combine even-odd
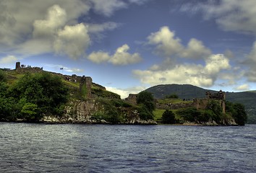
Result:
{"label": "long bright cream cloud bank just above the distant mountain", "polygon": [[[218,66],[216,63],[219,61]],[[170,68],[152,70],[135,70],[133,74],[143,84],[193,84],[196,86],[213,86],[218,74],[229,69],[229,59],[223,55],[212,55],[205,60],[205,66],[183,63]]]}

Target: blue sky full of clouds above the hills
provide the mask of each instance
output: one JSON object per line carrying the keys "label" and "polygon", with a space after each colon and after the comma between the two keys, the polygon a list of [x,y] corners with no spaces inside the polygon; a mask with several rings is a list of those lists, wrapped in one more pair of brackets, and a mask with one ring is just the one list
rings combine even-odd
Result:
{"label": "blue sky full of clouds above the hills", "polygon": [[1,0],[0,68],[91,76],[121,98],[158,84],[256,90],[255,16],[255,0]]}

